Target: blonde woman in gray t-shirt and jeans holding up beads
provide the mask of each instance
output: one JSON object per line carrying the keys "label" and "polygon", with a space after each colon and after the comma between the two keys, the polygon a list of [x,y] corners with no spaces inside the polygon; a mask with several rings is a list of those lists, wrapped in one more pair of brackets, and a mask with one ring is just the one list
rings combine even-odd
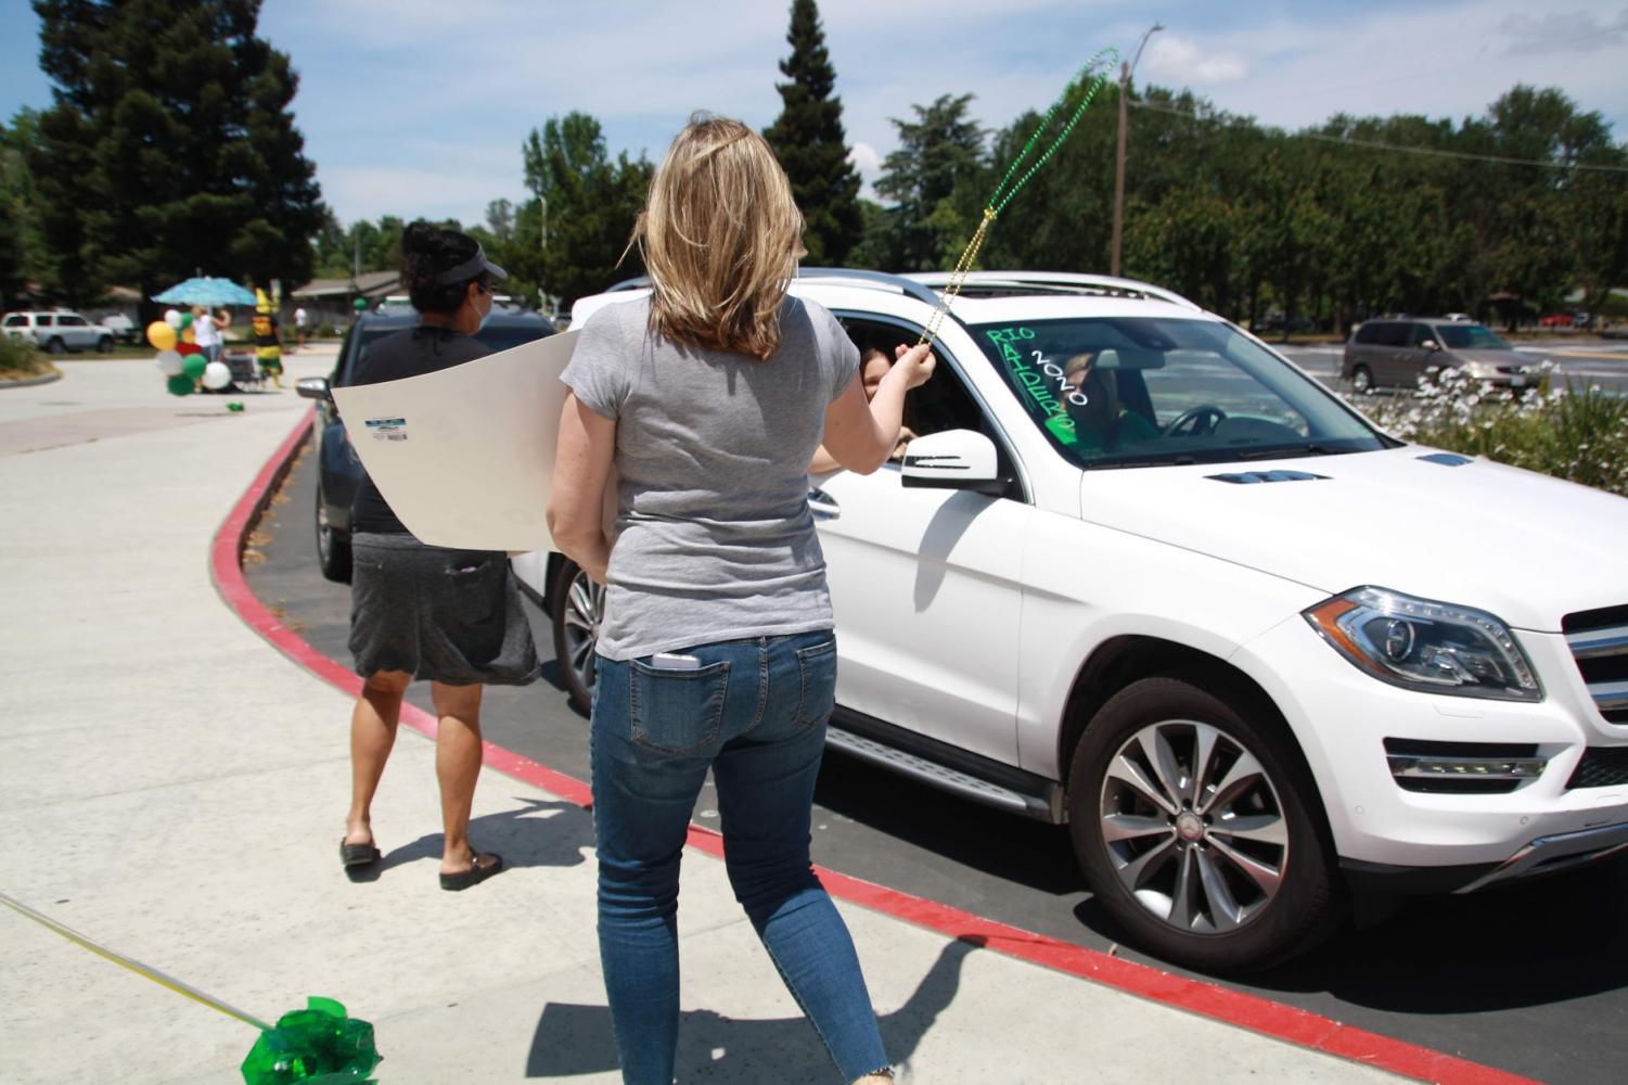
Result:
{"label": "blonde woman in gray t-shirt and jeans holding up beads", "polygon": [[837,642],[806,472],[822,432],[842,466],[879,468],[934,358],[900,345],[866,404],[842,326],[786,293],[801,236],[764,138],[695,114],[633,231],[651,297],[596,313],[563,375],[549,526],[606,583],[589,731],[599,956],[630,1085],[672,1080],[679,860],[708,769],[729,883],[781,977],[845,1082],[892,1077],[809,862]]}

